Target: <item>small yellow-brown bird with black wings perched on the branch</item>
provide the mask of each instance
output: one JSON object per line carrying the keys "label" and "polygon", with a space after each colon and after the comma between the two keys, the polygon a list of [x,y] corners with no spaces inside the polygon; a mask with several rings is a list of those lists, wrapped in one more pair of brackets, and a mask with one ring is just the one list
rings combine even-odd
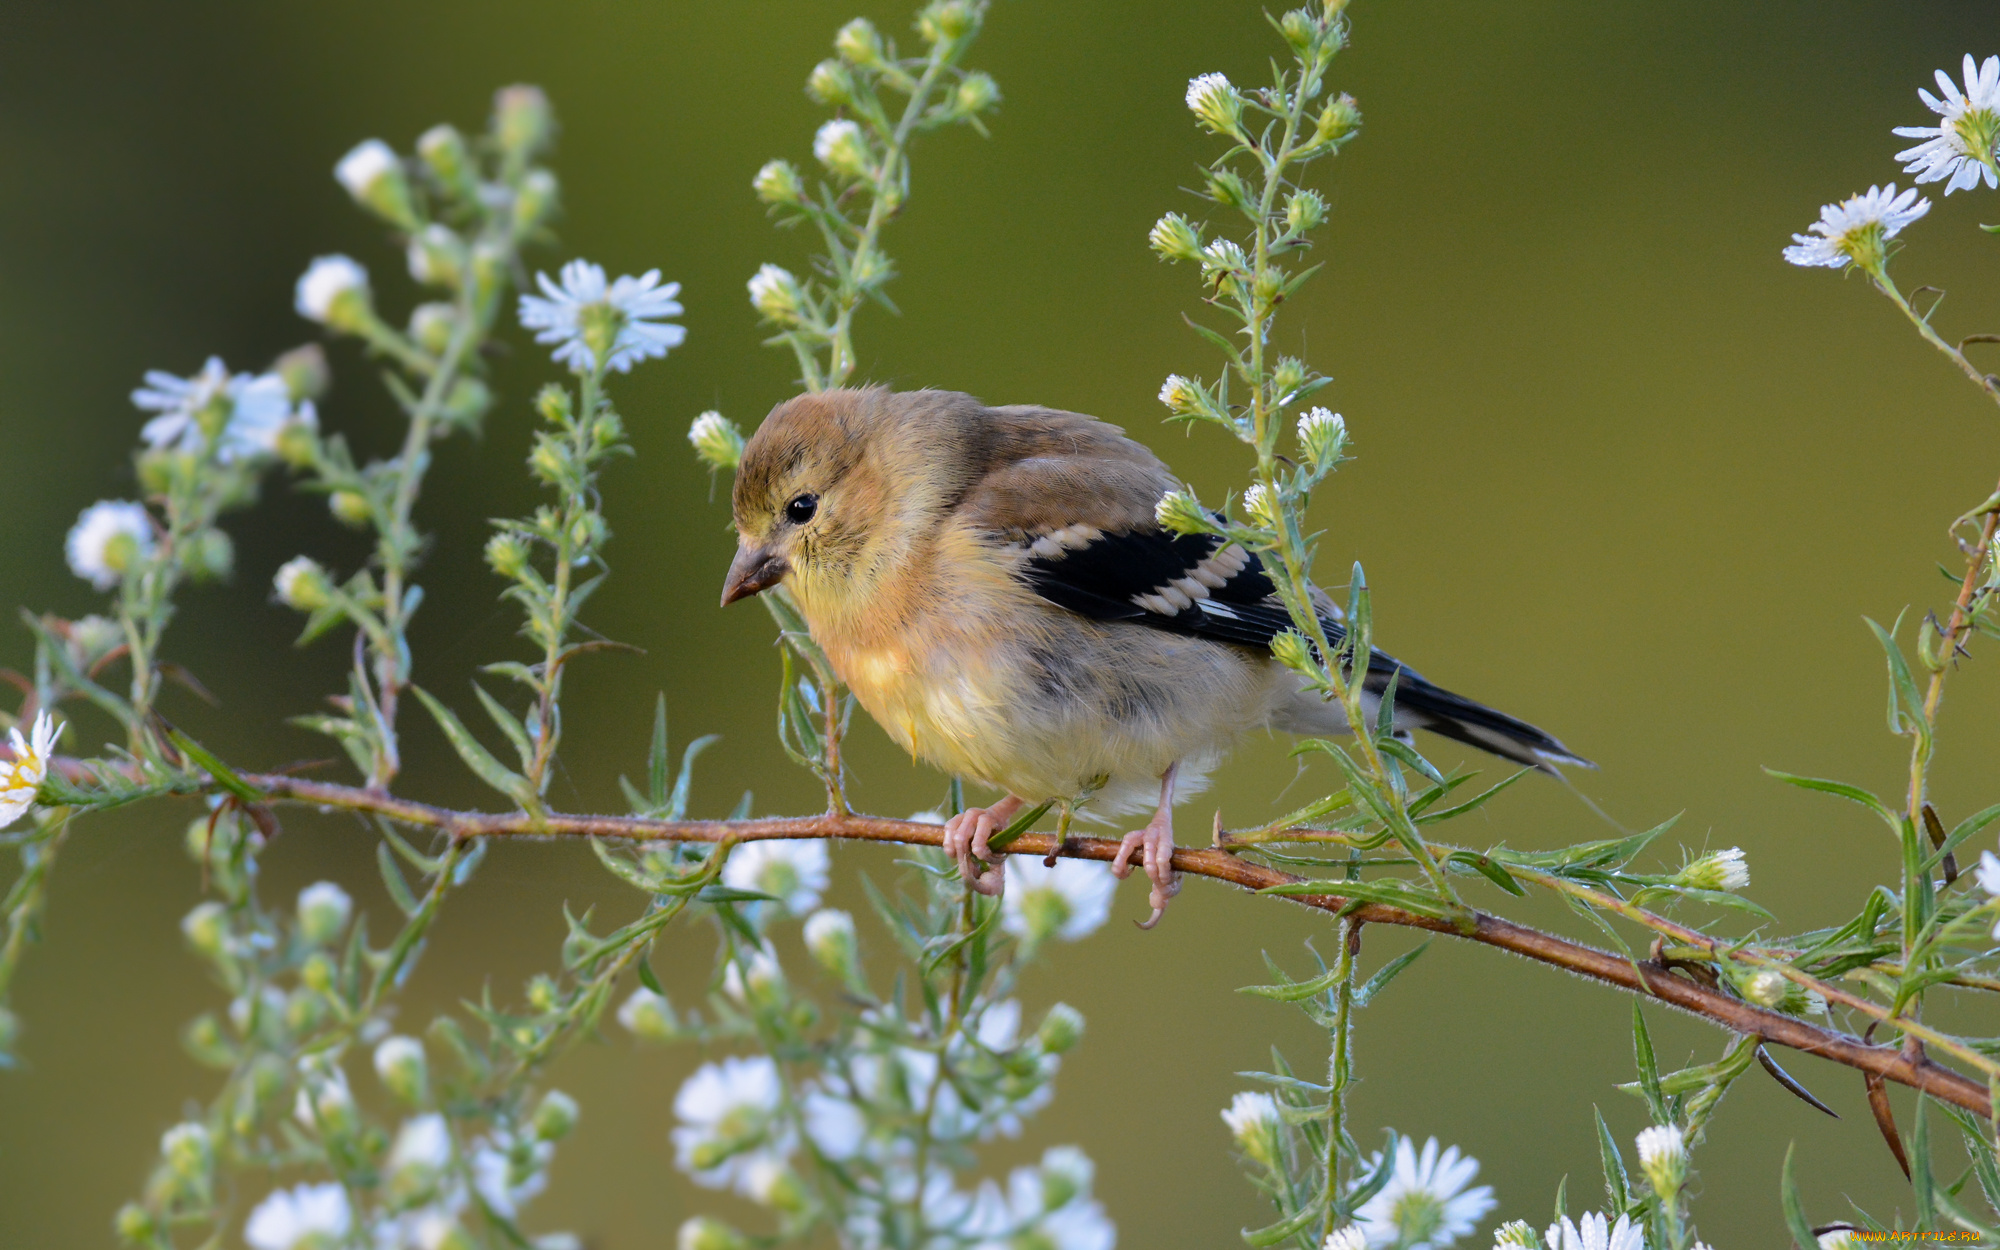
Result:
{"label": "small yellow-brown bird with black wings perched on the branch", "polygon": [[[1292,628],[1254,552],[1160,526],[1178,482],[1150,450],[1076,412],[988,408],[948,390],[826,390],[778,404],[744,446],[738,548],[722,604],[780,582],[812,640],[912,756],[1004,792],[946,824],[964,878],[998,894],[990,838],[1026,806],[1152,810],[1138,858],[1152,918],[1178,890],[1174,802],[1242,734],[1344,734],[1338,704],[1270,654]],[[1330,640],[1338,610],[1318,590]],[[1430,730],[1556,772],[1590,766],[1532,724],[1396,676],[1394,728]]]}

